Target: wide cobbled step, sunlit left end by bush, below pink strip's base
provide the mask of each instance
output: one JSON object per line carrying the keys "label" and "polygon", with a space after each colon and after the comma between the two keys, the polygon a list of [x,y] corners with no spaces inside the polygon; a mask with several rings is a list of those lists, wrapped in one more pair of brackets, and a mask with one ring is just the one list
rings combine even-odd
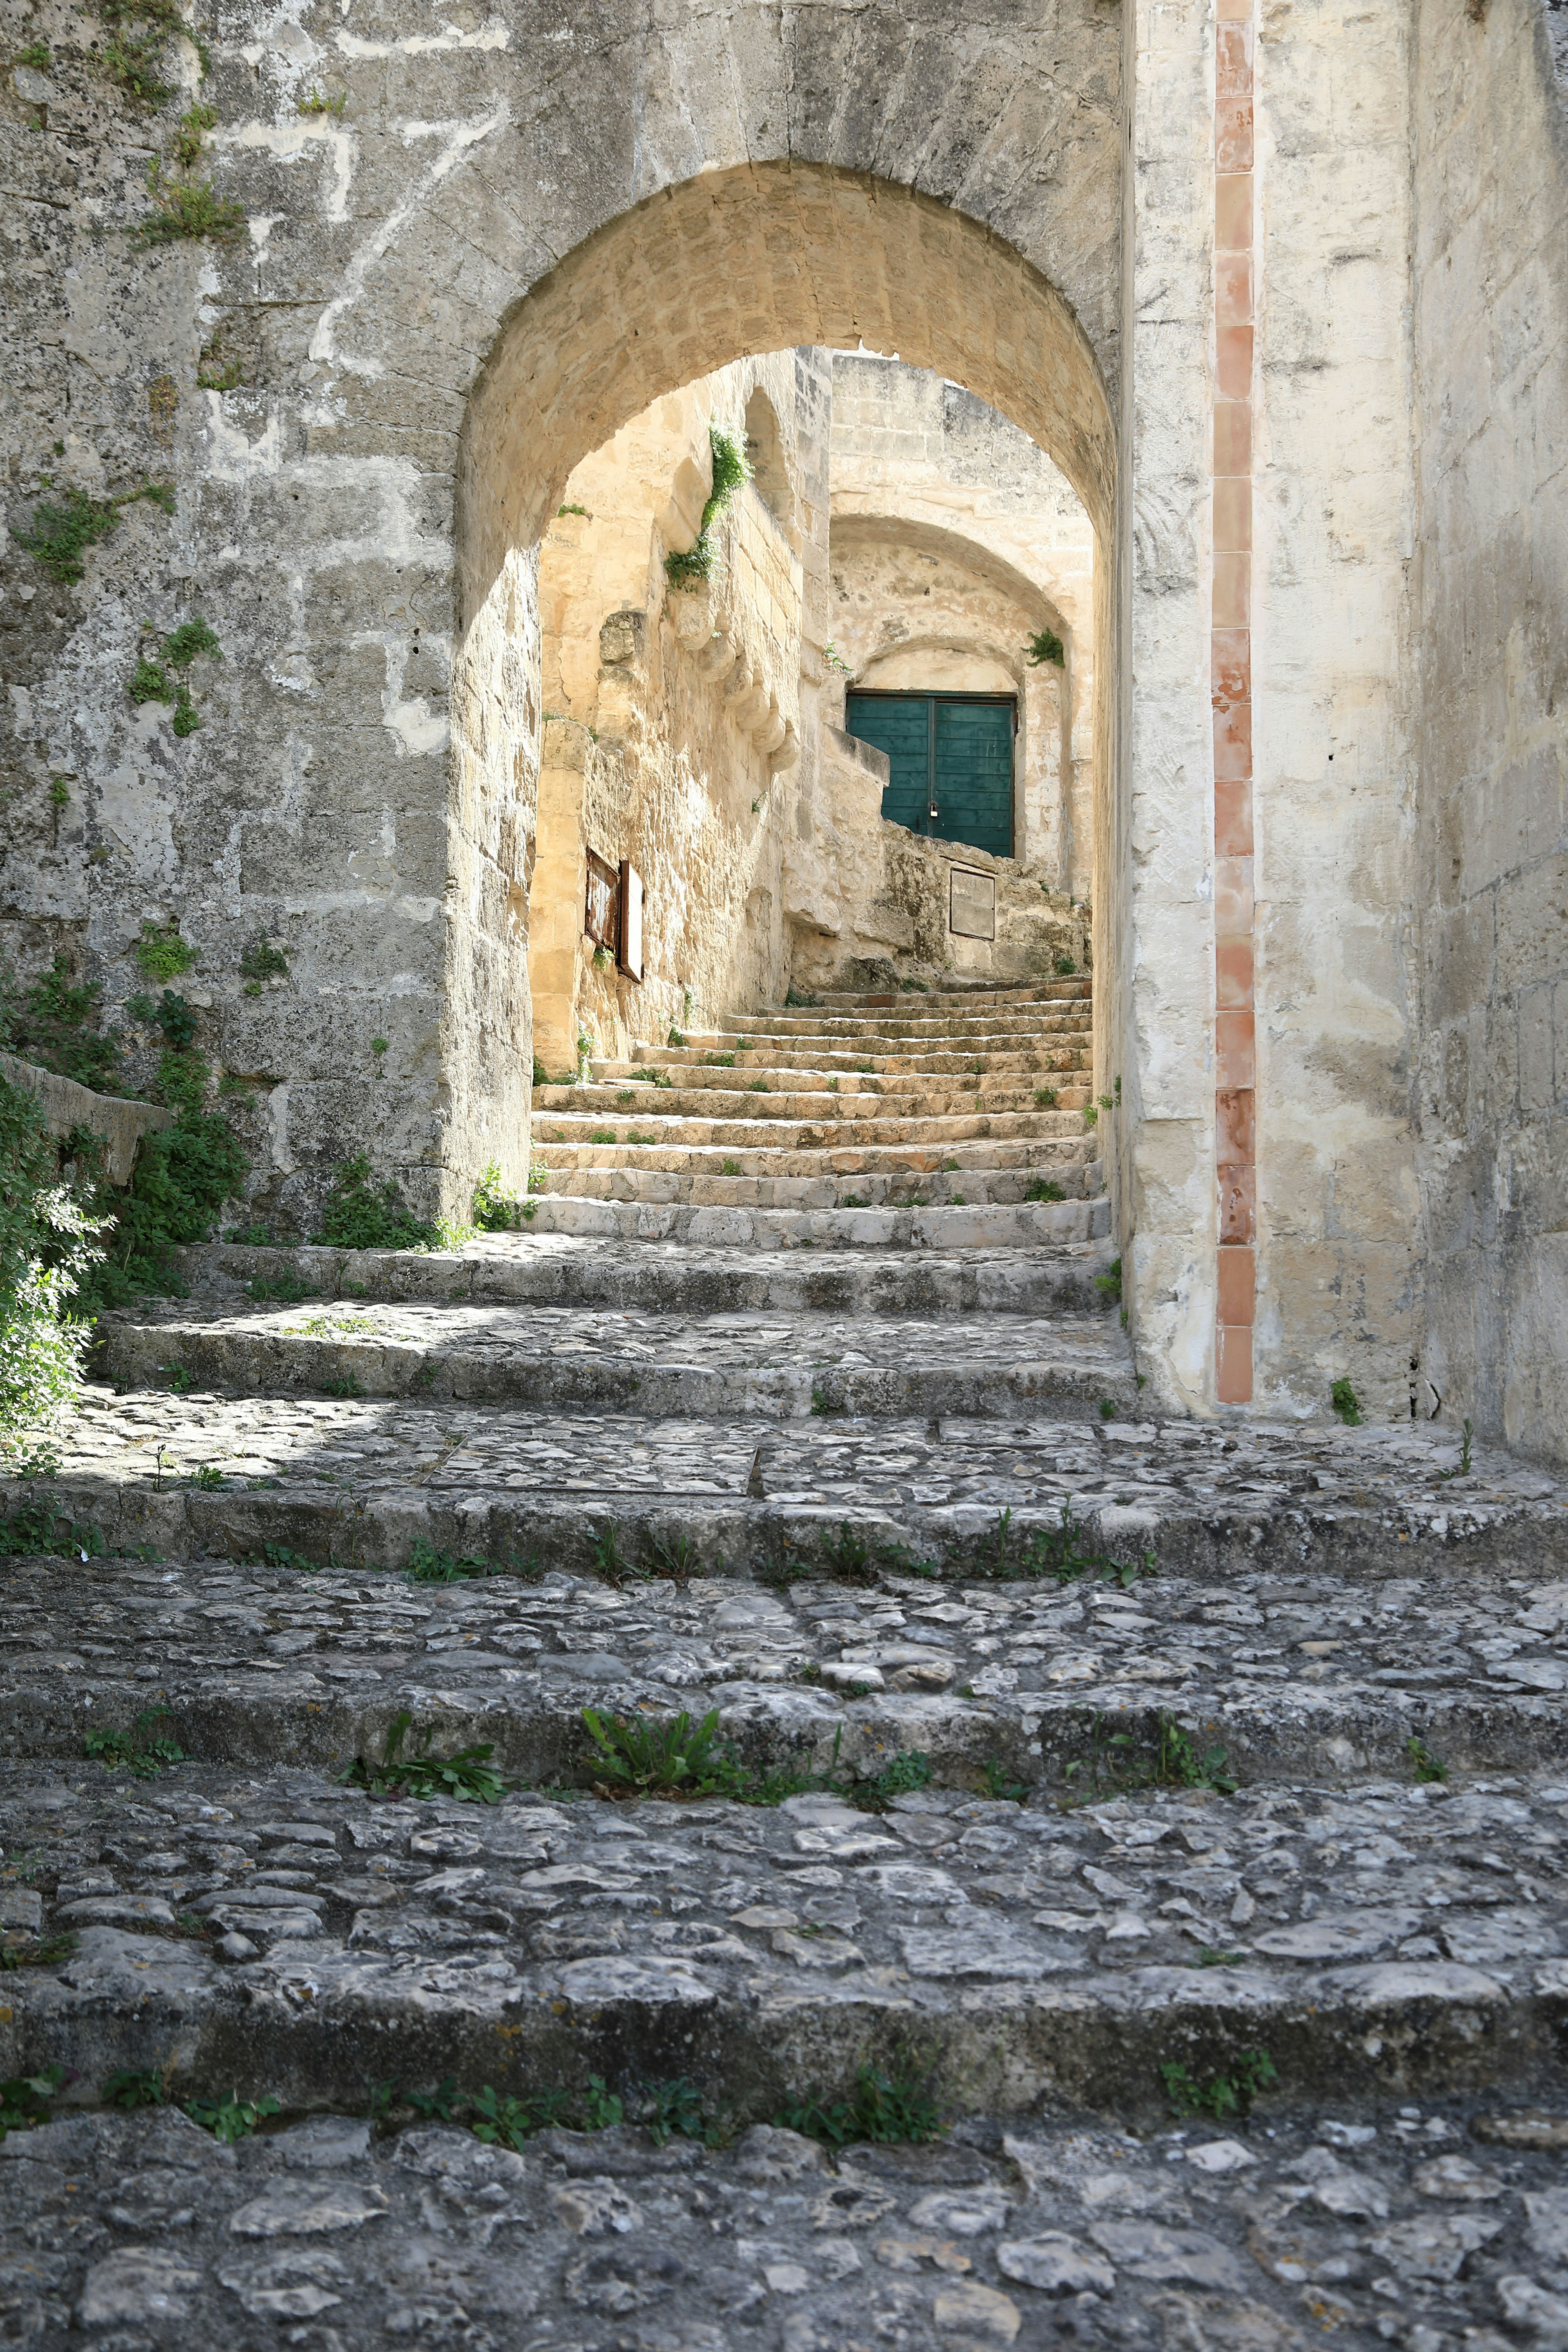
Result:
{"label": "wide cobbled step, sunlit left end by bush, below pink strip's base", "polygon": [[[839,1557],[844,1526],[867,1559],[983,1564],[1001,1543],[1001,1566],[1018,1564],[1032,1536],[1048,1552],[1063,1512],[1091,1550],[1133,1564],[1152,1552],[1171,1576],[1488,1564],[1540,1581],[1568,1541],[1552,1479],[1481,1454],[1460,1479],[1458,1449],[1425,1428],[1232,1432],[1041,1406],[863,1418],[832,1411],[832,1376],[820,1385],[830,1409],[809,1421],[89,1390],[71,1468],[33,1503],[96,1526],[110,1550],[244,1557],[282,1543],[397,1564],[423,1536],[569,1571],[611,1522],[628,1557],[679,1531],[703,1559],[762,1576]],[[16,1479],[7,1494],[7,1508],[28,1501]],[[1540,1686],[1556,1691],[1552,1675]]]}

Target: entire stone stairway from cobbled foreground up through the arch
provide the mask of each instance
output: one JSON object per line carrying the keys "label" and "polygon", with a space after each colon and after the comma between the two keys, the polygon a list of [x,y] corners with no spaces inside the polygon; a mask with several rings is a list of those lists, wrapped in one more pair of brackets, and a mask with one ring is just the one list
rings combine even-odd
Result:
{"label": "entire stone stairway from cobbled foreground up through the arch", "polygon": [[639,1049],[515,1232],[106,1317],[2,1505],[2,2340],[1559,2340],[1568,1498],[1140,1418],[1084,1021]]}

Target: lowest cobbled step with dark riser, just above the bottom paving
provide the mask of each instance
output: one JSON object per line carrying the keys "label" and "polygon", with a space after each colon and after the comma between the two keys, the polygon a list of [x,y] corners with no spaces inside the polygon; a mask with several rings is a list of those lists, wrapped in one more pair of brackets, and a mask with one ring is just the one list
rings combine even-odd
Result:
{"label": "lowest cobbled step with dark riser, just above the bottom paving", "polygon": [[1542,1776],[867,1813],[14,1764],[0,2063],[240,2067],[294,2105],[393,2070],[529,2093],[686,2072],[752,2119],[910,2051],[964,2112],[1140,2117],[1161,2065],[1201,2084],[1246,2049],[1281,2096],[1540,2089],[1563,1806]]}

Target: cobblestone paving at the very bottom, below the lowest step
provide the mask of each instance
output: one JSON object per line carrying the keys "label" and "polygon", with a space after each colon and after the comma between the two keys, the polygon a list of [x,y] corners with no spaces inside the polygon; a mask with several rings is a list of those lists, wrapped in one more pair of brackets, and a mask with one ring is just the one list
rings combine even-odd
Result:
{"label": "cobblestone paving at the very bottom, below the lowest step", "polygon": [[1540,2110],[1331,2110],[976,2126],[835,2166],[766,2124],[517,2154],[442,2124],[219,2147],[174,2110],[82,2114],[0,2145],[0,2310],[38,2352],[1502,2352],[1568,2333],[1566,2138]]}

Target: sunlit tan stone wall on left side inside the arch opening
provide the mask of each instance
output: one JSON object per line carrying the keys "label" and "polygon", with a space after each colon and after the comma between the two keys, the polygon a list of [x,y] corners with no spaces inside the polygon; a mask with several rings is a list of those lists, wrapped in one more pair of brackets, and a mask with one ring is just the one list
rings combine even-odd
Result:
{"label": "sunlit tan stone wall on left side inside the arch opening", "polygon": [[[534,1051],[750,1011],[785,988],[783,844],[802,746],[804,555],[827,548],[811,350],[741,360],[630,419],[567,480],[541,555],[545,734],[529,983]],[[712,480],[710,423],[748,419],[764,470],[712,527],[705,586],[672,590]],[[766,492],[766,494],[764,494]],[[583,934],[585,854],[644,880],[644,976]]]}

